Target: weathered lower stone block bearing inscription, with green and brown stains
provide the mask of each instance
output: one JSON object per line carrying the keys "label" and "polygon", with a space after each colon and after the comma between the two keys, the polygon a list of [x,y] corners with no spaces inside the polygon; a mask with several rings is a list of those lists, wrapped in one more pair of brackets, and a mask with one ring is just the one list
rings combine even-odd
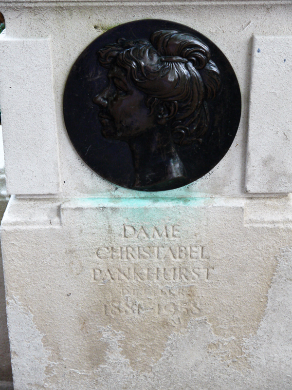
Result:
{"label": "weathered lower stone block bearing inscription, with green and brown stains", "polygon": [[290,389],[290,213],[289,196],[13,198],[15,389]]}

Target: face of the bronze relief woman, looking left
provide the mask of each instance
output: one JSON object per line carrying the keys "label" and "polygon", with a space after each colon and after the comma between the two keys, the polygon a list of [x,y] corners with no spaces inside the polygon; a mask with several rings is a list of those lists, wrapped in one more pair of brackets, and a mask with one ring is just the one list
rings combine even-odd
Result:
{"label": "face of the bronze relief woman, looking left", "polygon": [[149,115],[146,95],[130,83],[125,72],[116,65],[110,69],[108,78],[107,88],[93,100],[100,107],[102,135],[127,141],[151,129],[155,117]]}

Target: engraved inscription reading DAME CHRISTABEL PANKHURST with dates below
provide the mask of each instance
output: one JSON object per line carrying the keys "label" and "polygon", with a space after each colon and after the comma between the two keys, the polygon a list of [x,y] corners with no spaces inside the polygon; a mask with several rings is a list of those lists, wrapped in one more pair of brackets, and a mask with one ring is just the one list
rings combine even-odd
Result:
{"label": "engraved inscription reading DAME CHRISTABEL PANKHURST with dates below", "polygon": [[120,316],[154,316],[176,326],[201,312],[199,286],[208,289],[214,268],[204,247],[192,242],[195,238],[186,240],[183,226],[128,222],[119,236],[120,245],[96,249],[91,266],[104,315],[118,321]]}

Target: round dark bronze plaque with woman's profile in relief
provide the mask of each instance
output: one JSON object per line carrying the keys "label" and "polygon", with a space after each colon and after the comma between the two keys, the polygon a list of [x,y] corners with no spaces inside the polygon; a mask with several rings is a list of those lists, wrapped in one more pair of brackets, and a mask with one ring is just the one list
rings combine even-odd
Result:
{"label": "round dark bronze plaque with woman's profile in relief", "polygon": [[122,187],[164,191],[206,175],[237,132],[241,97],[219,48],[166,20],[95,39],[71,69],[64,118],[79,156]]}

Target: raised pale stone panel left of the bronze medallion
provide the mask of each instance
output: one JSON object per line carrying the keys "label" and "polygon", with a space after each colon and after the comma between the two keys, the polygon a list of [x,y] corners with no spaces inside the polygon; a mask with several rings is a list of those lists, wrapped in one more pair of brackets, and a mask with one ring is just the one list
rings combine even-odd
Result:
{"label": "raised pale stone panel left of the bronze medallion", "polygon": [[50,39],[0,39],[0,105],[9,194],[55,194],[58,149]]}

